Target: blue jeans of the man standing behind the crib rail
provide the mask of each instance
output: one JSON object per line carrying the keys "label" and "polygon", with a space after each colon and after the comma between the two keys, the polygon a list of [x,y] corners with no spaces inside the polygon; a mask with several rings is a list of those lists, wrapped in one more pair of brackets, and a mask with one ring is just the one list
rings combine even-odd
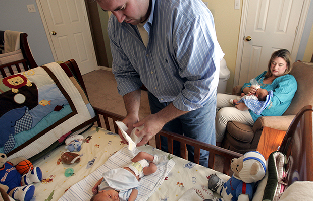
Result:
{"label": "blue jeans of the man standing behind the crib rail", "polygon": [[[149,105],[152,114],[155,114],[171,102],[160,103],[158,98],[148,92]],[[215,113],[216,94],[201,108],[190,111],[166,123],[164,130],[176,132],[180,135],[215,145]],[[180,143],[173,142],[174,154],[180,156]],[[168,151],[167,138],[161,136],[161,149]],[[188,160],[194,159],[194,147],[187,145]],[[200,165],[207,167],[208,151],[200,150]]]}

